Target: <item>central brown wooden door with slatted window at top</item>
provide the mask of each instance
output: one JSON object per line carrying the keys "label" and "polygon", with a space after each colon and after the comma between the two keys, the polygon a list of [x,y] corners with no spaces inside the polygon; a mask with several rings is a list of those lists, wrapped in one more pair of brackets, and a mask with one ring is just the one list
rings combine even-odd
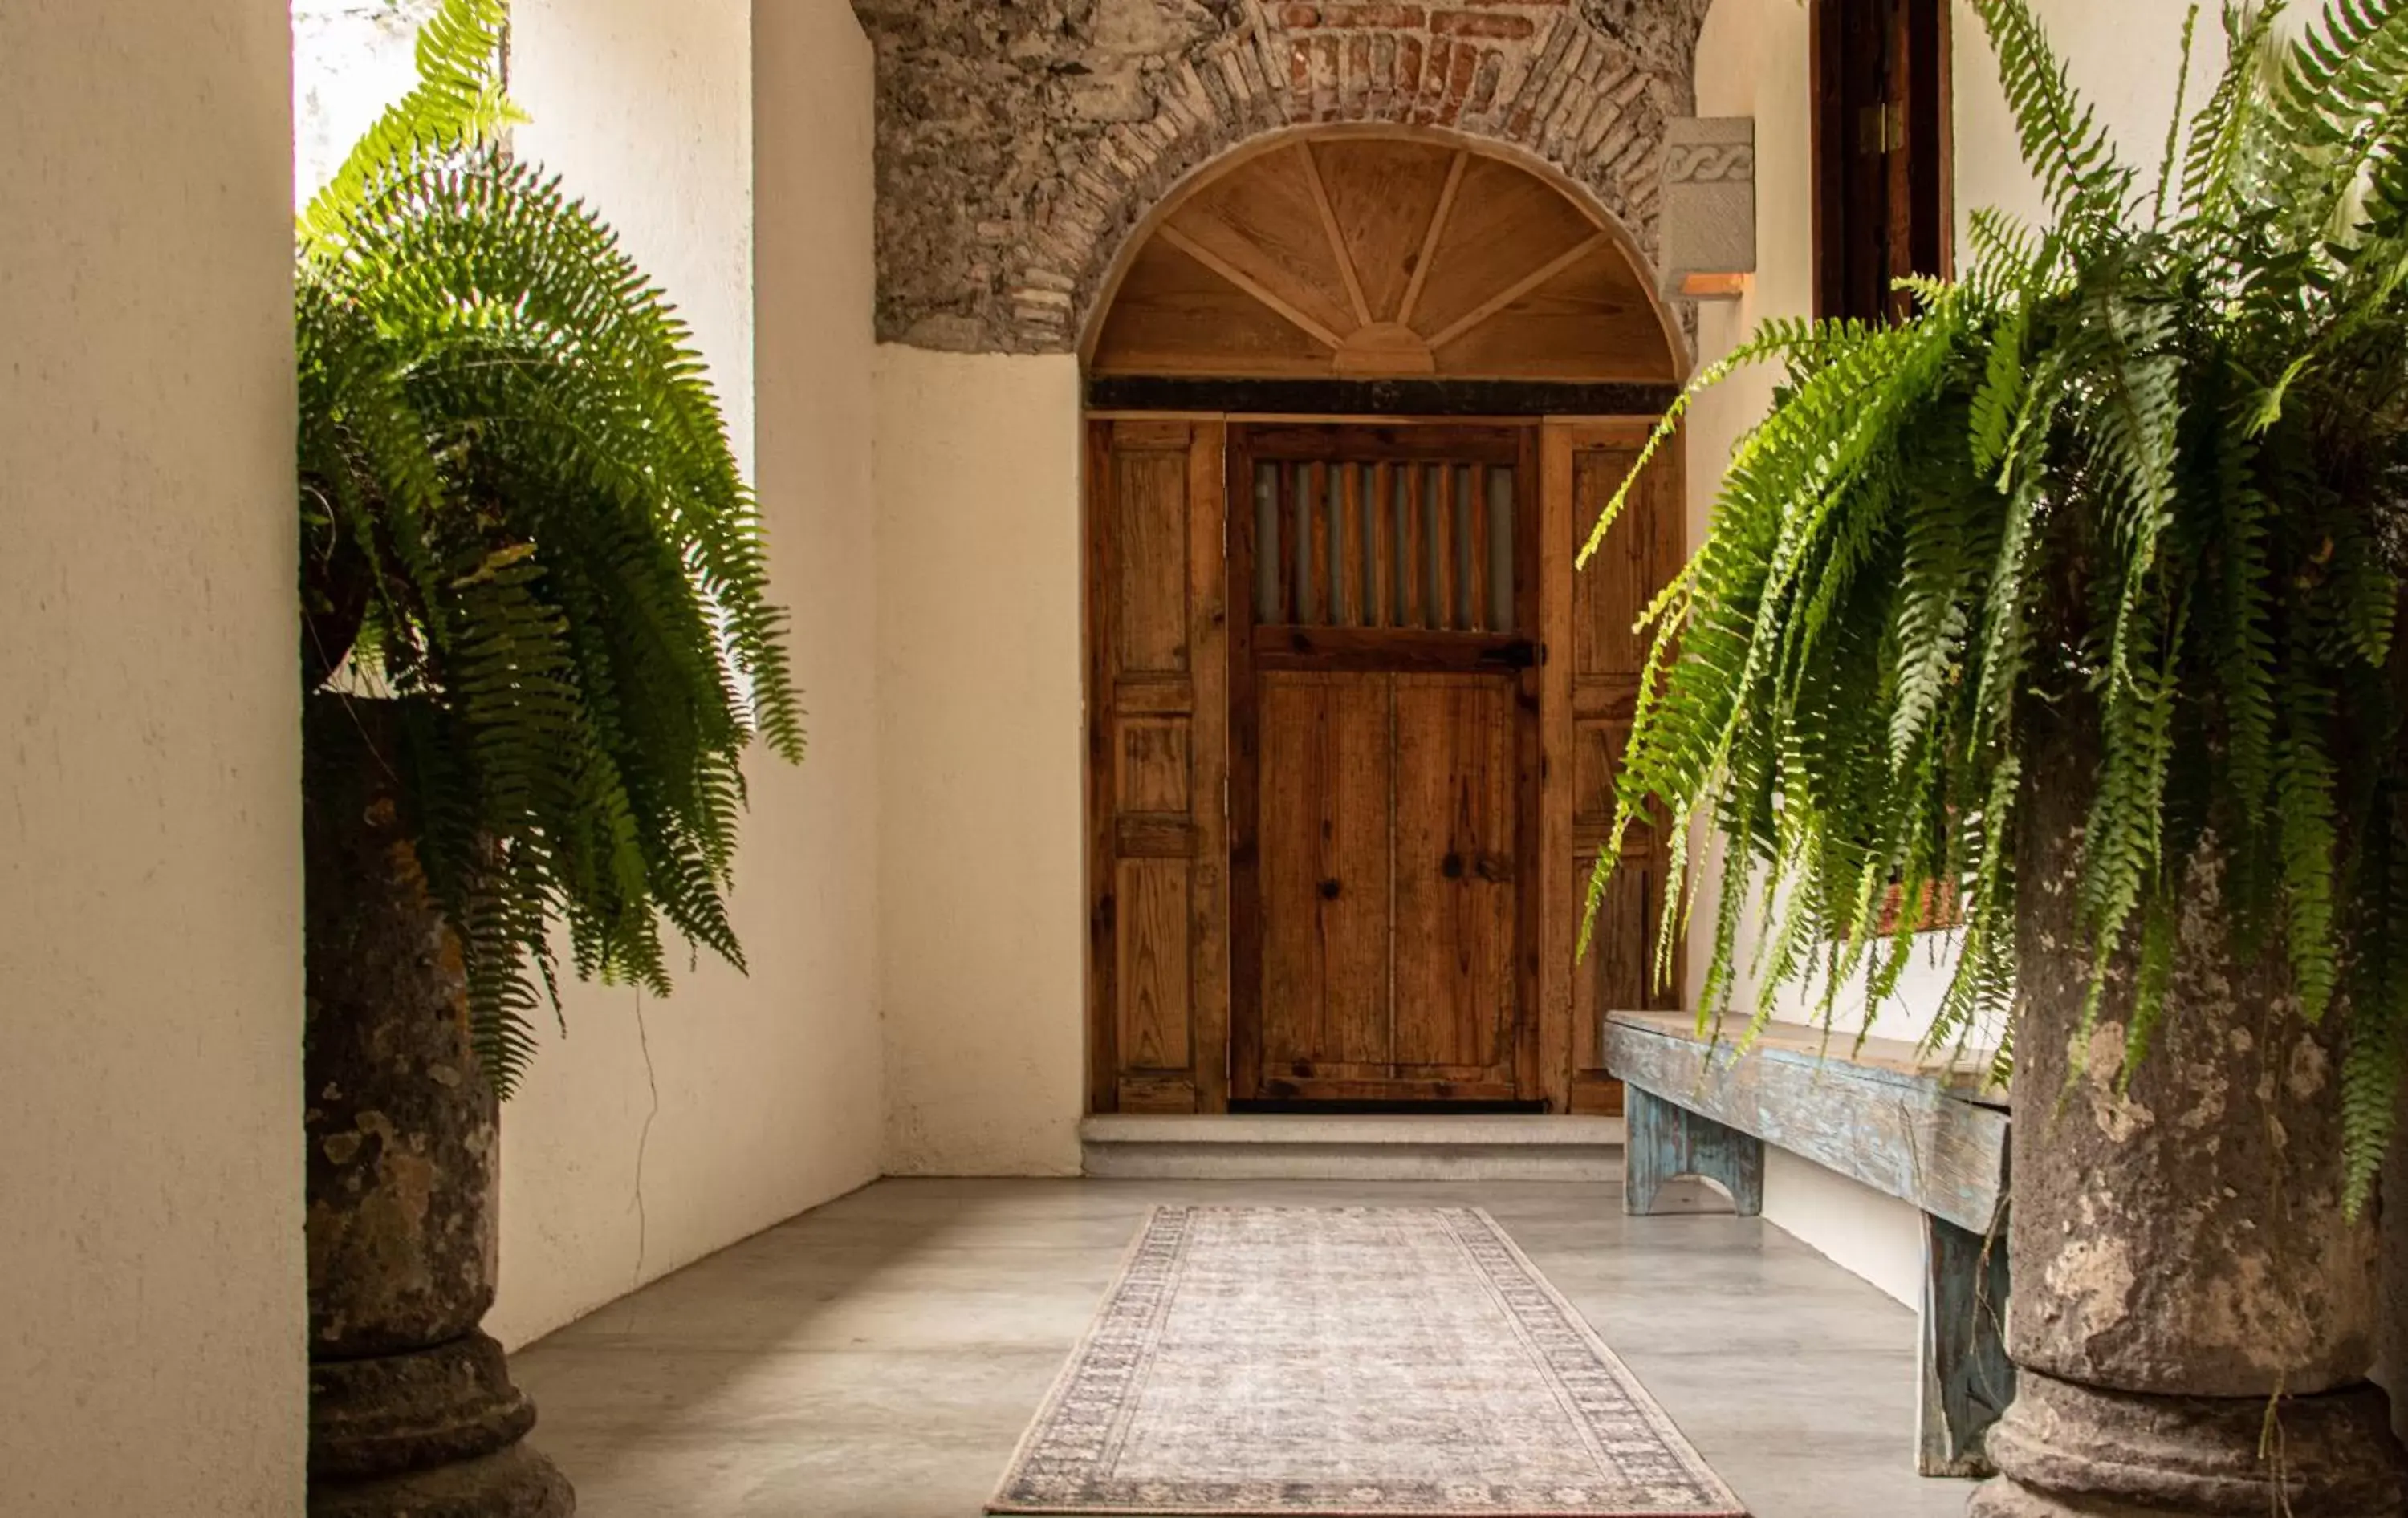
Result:
{"label": "central brown wooden door with slatted window at top", "polygon": [[1230,435],[1230,1095],[1539,1099],[1536,435]]}

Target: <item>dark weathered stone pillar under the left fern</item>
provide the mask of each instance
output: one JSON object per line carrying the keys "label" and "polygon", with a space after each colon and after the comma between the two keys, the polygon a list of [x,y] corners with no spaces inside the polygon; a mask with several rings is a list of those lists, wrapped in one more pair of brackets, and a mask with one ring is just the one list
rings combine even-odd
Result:
{"label": "dark weathered stone pillar under the left fern", "polygon": [[494,1306],[498,1104],[460,941],[397,806],[390,702],[315,695],[308,868],[311,1492],[323,1518],[559,1518]]}

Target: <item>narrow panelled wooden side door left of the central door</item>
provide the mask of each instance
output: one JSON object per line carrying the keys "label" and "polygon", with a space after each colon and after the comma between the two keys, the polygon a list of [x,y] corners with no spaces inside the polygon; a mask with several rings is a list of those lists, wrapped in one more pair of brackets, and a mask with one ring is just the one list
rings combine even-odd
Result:
{"label": "narrow panelled wooden side door left of the central door", "polygon": [[1088,1102],[1228,1102],[1218,421],[1088,426]]}

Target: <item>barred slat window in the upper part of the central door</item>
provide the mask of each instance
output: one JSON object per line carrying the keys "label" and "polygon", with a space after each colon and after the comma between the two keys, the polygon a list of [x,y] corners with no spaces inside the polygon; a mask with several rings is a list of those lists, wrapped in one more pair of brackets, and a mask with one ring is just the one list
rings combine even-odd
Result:
{"label": "barred slat window in the upper part of the central door", "polygon": [[1515,630],[1510,464],[1262,459],[1255,621]]}

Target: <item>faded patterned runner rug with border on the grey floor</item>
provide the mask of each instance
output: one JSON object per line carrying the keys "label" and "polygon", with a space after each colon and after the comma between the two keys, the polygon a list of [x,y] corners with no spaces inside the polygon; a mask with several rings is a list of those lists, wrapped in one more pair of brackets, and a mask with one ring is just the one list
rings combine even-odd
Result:
{"label": "faded patterned runner rug with border on the grey floor", "polygon": [[1746,1518],[1471,1208],[1158,1208],[987,1511]]}

